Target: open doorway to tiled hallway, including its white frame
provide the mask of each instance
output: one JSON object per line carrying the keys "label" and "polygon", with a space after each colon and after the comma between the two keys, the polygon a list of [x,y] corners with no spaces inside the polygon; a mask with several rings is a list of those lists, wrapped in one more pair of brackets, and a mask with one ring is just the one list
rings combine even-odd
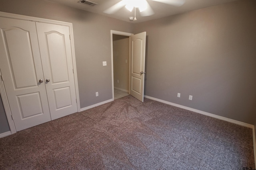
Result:
{"label": "open doorway to tiled hallway, including its white frame", "polygon": [[111,30],[112,98],[116,100],[130,94],[130,36]]}

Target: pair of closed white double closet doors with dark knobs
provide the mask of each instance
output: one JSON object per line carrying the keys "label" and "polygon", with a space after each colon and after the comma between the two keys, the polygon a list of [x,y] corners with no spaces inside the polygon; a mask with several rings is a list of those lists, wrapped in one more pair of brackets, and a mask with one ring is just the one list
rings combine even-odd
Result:
{"label": "pair of closed white double closet doors with dark knobs", "polygon": [[0,17],[0,69],[16,131],[77,112],[69,27]]}

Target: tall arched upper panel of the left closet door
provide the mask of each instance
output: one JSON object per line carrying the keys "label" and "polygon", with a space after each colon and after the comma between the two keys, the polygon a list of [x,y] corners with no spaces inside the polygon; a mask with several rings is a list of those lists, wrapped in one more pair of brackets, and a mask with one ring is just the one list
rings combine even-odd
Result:
{"label": "tall arched upper panel of the left closet door", "polygon": [[29,31],[12,27],[3,30],[3,34],[8,46],[8,60],[12,68],[15,89],[37,86]]}

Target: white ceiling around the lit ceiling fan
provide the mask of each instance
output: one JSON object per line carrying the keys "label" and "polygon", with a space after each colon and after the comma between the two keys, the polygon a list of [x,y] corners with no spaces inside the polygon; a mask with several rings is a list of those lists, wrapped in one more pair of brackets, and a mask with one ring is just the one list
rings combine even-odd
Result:
{"label": "white ceiling around the lit ceiling fan", "polygon": [[151,6],[152,10],[154,11],[154,15],[142,17],[140,16],[140,12],[137,10],[136,21],[129,20],[129,17],[134,16],[134,10],[130,12],[125,7],[121,8],[120,10],[118,10],[118,12],[111,15],[103,12],[104,10],[110,8],[114,4],[120,2],[121,0],[89,0],[91,2],[97,3],[98,5],[96,6],[87,6],[85,4],[78,3],[79,0],[48,0],[48,1],[56,2],[66,6],[71,6],[73,8],[78,8],[80,10],[94,12],[104,16],[109,16],[112,18],[116,18],[118,20],[138,23],[138,22],[154,20],[154,19],[165,17],[165,16],[171,16],[175,14],[184,13],[187,11],[198,10],[201,8],[207,8],[210,6],[216,6],[219,4],[224,4],[224,3],[238,1],[238,0],[186,0],[185,4],[180,7],[163,4],[153,0],[147,0],[148,4]]}

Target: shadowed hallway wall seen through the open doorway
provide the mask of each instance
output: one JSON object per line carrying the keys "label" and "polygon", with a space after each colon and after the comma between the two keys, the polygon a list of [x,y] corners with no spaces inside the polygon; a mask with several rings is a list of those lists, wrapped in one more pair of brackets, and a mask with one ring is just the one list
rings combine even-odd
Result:
{"label": "shadowed hallway wall seen through the open doorway", "polygon": [[[127,63],[125,63],[127,60]],[[114,87],[129,90],[129,37],[113,35]],[[117,82],[118,80],[118,82]]]}

